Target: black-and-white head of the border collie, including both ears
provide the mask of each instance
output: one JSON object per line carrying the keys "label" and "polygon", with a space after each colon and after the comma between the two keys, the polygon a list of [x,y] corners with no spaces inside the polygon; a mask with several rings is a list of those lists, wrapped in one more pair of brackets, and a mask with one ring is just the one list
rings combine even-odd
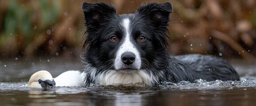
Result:
{"label": "black-and-white head of the border collie, including both ears", "polygon": [[[83,3],[85,61],[98,69],[133,72],[167,60],[170,3],[143,4],[134,14],[117,15],[105,3]],[[154,64],[154,65],[152,65]]]}

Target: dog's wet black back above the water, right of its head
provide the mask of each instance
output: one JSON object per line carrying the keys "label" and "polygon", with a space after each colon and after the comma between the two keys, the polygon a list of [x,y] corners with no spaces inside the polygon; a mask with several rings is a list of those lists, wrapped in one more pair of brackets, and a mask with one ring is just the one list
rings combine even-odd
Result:
{"label": "dog's wet black back above the water, right of its head", "polygon": [[175,73],[173,78],[170,78],[172,82],[182,80],[194,82],[196,79],[206,79],[207,81],[216,79],[222,81],[240,80],[234,68],[227,61],[218,57],[188,54],[171,57],[170,60],[171,65],[175,63],[173,67],[178,67],[176,70],[170,69],[172,73]]}

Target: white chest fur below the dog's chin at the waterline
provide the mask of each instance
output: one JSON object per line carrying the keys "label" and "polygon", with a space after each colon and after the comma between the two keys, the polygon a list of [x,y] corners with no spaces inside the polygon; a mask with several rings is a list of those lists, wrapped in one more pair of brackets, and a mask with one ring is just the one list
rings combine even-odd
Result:
{"label": "white chest fur below the dog's chin at the waterline", "polygon": [[96,68],[89,68],[91,76],[90,78],[101,85],[112,85],[112,84],[128,84],[128,83],[146,83],[151,86],[158,82],[158,77],[154,76],[153,73],[147,73],[145,70],[138,70],[133,72],[124,72],[116,70],[105,70],[104,72],[96,75]]}

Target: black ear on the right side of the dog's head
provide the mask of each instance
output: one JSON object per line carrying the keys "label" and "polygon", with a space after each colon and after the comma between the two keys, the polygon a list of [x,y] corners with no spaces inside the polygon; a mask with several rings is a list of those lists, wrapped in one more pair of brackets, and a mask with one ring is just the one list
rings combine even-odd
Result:
{"label": "black ear on the right side of the dog's head", "polygon": [[150,3],[141,5],[136,10],[136,13],[150,19],[155,27],[168,26],[169,14],[172,12],[171,3],[166,2],[163,4]]}

